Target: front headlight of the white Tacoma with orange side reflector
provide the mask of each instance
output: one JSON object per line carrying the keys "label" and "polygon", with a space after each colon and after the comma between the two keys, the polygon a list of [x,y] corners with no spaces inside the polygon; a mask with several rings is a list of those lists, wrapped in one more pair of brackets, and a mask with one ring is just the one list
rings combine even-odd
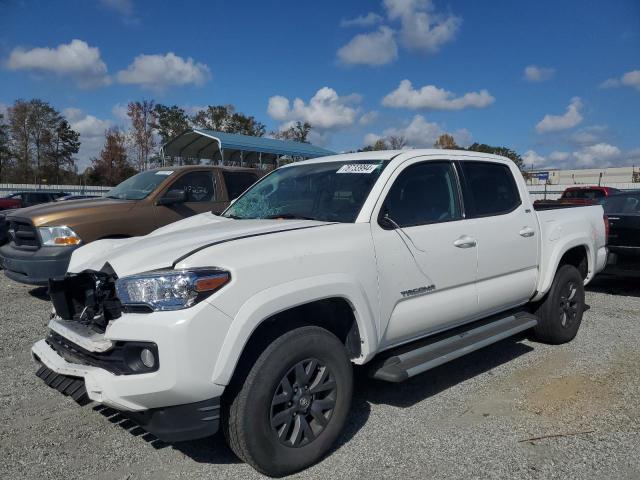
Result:
{"label": "front headlight of the white Tacoma with orange side reflector", "polygon": [[123,305],[145,305],[152,310],[189,308],[231,280],[229,272],[216,268],[157,270],[116,280]]}

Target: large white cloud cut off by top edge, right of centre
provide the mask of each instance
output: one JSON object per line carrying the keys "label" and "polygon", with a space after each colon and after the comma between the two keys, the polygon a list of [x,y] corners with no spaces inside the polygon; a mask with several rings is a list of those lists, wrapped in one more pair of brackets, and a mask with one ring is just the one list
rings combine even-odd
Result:
{"label": "large white cloud cut off by top edge, right of centre", "polygon": [[462,19],[437,13],[431,0],[384,0],[390,20],[400,20],[402,44],[424,53],[435,53],[453,40]]}

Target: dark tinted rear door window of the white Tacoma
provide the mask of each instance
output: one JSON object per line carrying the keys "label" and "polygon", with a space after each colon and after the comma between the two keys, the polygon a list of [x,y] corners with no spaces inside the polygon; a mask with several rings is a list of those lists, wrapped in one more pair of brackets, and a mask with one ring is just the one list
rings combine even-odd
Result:
{"label": "dark tinted rear door window of the white Tacoma", "polygon": [[467,216],[502,215],[522,202],[508,166],[489,162],[461,162],[465,179],[464,198]]}

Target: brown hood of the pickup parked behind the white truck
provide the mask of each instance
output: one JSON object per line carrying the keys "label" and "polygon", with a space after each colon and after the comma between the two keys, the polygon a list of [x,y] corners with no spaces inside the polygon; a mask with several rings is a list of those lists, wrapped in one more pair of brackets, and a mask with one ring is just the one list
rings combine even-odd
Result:
{"label": "brown hood of the pickup parked behind the white truck", "polygon": [[93,215],[104,209],[130,210],[136,204],[133,200],[115,198],[88,198],[84,200],[67,200],[50,202],[21,208],[17,216],[30,219],[36,227],[43,225],[71,225],[78,216]]}

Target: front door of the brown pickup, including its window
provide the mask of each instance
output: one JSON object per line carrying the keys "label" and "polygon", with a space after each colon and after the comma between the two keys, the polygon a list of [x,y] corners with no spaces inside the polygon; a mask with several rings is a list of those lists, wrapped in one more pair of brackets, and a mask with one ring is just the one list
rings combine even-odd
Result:
{"label": "front door of the brown pickup, including its window", "polygon": [[224,202],[218,198],[213,170],[193,170],[177,177],[168,185],[162,195],[171,190],[182,190],[186,201],[170,205],[156,205],[157,226],[161,227],[198,213],[214,211],[219,213]]}

